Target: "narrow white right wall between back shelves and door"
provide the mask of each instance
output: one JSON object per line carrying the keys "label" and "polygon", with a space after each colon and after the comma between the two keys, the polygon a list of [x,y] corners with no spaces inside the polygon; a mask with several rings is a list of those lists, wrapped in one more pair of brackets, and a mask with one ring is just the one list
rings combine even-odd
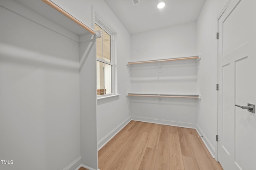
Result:
{"label": "narrow white right wall between back shelves and door", "polygon": [[206,0],[197,21],[198,53],[201,54],[198,73],[197,91],[202,95],[200,103],[198,128],[203,140],[216,156],[217,153],[217,16],[228,0]]}

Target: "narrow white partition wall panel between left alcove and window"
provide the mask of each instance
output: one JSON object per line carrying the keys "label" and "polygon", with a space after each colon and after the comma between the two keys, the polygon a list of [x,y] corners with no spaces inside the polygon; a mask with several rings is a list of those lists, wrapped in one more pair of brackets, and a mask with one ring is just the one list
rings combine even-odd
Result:
{"label": "narrow white partition wall panel between left alcove and window", "polygon": [[82,164],[98,169],[95,39],[80,42],[80,125]]}

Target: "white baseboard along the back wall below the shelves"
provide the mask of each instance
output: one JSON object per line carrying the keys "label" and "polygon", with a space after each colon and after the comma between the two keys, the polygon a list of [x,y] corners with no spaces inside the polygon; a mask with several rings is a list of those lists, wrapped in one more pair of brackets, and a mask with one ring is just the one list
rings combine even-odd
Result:
{"label": "white baseboard along the back wall below the shelves", "polygon": [[152,119],[152,118],[136,117],[136,116],[132,116],[132,121],[141,121],[141,122],[147,122],[147,123],[155,123],[155,124],[161,124],[161,125],[169,125],[169,126],[196,129],[196,124],[187,123],[187,122],[167,121],[167,120],[163,120],[163,119]]}

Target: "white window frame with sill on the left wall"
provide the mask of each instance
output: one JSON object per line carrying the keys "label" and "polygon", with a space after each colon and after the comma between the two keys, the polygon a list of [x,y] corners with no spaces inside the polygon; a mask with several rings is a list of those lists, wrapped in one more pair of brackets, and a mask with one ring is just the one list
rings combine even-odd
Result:
{"label": "white window frame with sill on the left wall", "polygon": [[97,95],[97,99],[105,99],[108,97],[114,97],[114,96],[118,96],[119,94],[117,94],[117,89],[116,89],[116,32],[109,26],[109,24],[107,24],[100,16],[98,16],[97,13],[95,13],[95,22],[98,26],[100,26],[100,28],[102,28],[106,33],[108,33],[111,37],[111,49],[110,49],[110,53],[111,53],[111,62],[108,62],[104,59],[100,59],[96,57],[96,63],[97,61],[100,61],[102,63],[106,63],[112,66],[112,93],[111,94],[106,94],[106,95]]}

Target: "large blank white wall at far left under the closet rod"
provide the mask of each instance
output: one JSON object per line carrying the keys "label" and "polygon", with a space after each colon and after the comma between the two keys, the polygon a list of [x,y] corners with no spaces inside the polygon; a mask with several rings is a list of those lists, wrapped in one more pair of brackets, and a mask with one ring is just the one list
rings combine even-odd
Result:
{"label": "large blank white wall at far left under the closet rod", "polygon": [[79,44],[3,2],[14,8],[0,6],[0,157],[13,164],[0,169],[64,169],[80,157]]}

